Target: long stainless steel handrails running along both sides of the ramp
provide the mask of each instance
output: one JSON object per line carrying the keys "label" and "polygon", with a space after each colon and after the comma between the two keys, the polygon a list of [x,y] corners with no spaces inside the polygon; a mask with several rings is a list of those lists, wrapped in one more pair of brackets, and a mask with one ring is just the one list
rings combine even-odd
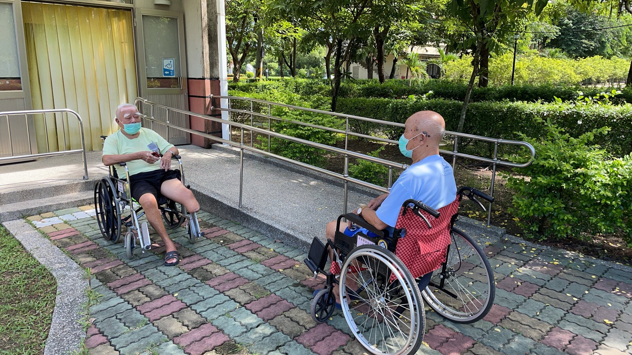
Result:
{"label": "long stainless steel handrails running along both sides of the ramp", "polygon": [[[167,115],[169,111],[174,111],[174,112],[179,112],[182,114],[187,114],[190,116],[194,116],[194,117],[200,117],[202,119],[208,119],[210,121],[215,121],[218,123],[224,123],[224,124],[229,124],[230,126],[235,126],[237,128],[240,128],[241,130],[241,142],[240,143],[236,143],[232,141],[232,129],[230,129],[231,132],[231,137],[230,140],[224,140],[222,138],[216,137],[216,136],[211,136],[211,135],[207,135],[205,133],[200,133],[198,131],[193,131],[192,129],[186,129],[186,128],[181,128],[179,126],[176,126],[174,124],[169,123],[169,121],[163,122],[163,121],[159,121],[154,119],[153,117],[147,117],[153,124],[153,122],[159,122],[161,124],[165,124],[167,126],[167,129],[169,129],[169,127],[171,128],[176,128],[176,129],[180,129],[182,131],[186,131],[188,133],[191,134],[195,134],[195,135],[200,135],[200,136],[204,136],[205,138],[209,138],[212,140],[216,140],[216,141],[220,141],[222,143],[226,143],[228,145],[231,145],[232,147],[240,147],[240,203],[239,203],[239,207],[241,207],[241,202],[242,202],[242,191],[243,191],[243,150],[249,150],[252,152],[257,152],[260,153],[262,155],[268,156],[268,157],[273,157],[275,159],[279,159],[279,160],[283,160],[285,162],[289,162],[291,164],[295,164],[295,165],[300,165],[301,167],[305,167],[307,169],[313,170],[313,171],[318,171],[318,172],[322,172],[324,174],[327,174],[329,176],[334,176],[336,178],[340,178],[343,179],[344,182],[344,213],[346,213],[347,210],[347,199],[348,199],[348,183],[352,182],[352,183],[356,183],[356,184],[360,184],[361,186],[365,186],[367,188],[372,188],[374,190],[377,191],[382,191],[382,192],[388,192],[392,186],[392,169],[393,167],[397,167],[400,169],[406,169],[406,167],[408,167],[407,164],[401,164],[401,163],[397,163],[397,162],[392,162],[390,160],[386,160],[386,159],[380,159],[380,158],[375,158],[375,157],[371,157],[370,155],[365,155],[362,153],[357,153],[357,152],[353,152],[348,150],[348,136],[358,136],[358,137],[362,137],[362,138],[368,138],[368,139],[372,139],[372,140],[379,140],[379,141],[384,141],[386,143],[398,143],[397,141],[394,140],[388,140],[386,138],[380,138],[380,137],[374,137],[374,136],[368,136],[368,135],[362,135],[360,133],[354,133],[349,131],[349,119],[360,119],[362,121],[368,121],[368,122],[372,122],[372,123],[379,123],[379,124],[386,124],[386,125],[390,125],[390,126],[397,126],[397,127],[404,127],[404,124],[401,123],[392,123],[392,122],[388,122],[388,121],[381,121],[378,119],[370,119],[367,117],[360,117],[360,116],[353,116],[353,115],[346,115],[346,114],[340,114],[338,112],[329,112],[329,111],[321,111],[321,110],[317,110],[317,109],[308,109],[306,107],[299,107],[299,106],[293,106],[293,105],[286,105],[286,104],[280,104],[277,102],[270,102],[270,101],[265,101],[265,100],[259,100],[259,99],[251,99],[248,97],[233,97],[233,96],[222,96],[222,95],[211,95],[211,99],[212,98],[218,98],[218,99],[228,99],[228,109],[224,109],[221,107],[211,107],[211,111],[216,110],[216,111],[228,111],[229,112],[229,117],[230,117],[230,112],[239,112],[242,114],[246,114],[246,115],[250,115],[250,125],[248,124],[243,124],[243,123],[236,123],[233,121],[229,121],[228,123],[226,122],[226,120],[224,119],[219,119],[216,117],[211,117],[211,116],[207,116],[204,114],[197,114],[195,112],[190,112],[190,111],[185,111],[185,110],[181,110],[181,109],[176,109],[173,107],[168,107],[166,105],[162,105],[162,104],[156,104],[154,102],[150,102],[149,100],[145,100],[142,97],[137,97],[137,99],[135,100],[135,104],[138,105],[139,102],[142,102],[143,104],[147,104],[150,105],[150,112],[151,114],[153,114],[154,112],[154,106],[155,107],[161,107],[162,109],[166,109],[167,110]],[[240,109],[232,109],[231,108],[231,100],[232,99],[236,99],[236,100],[250,100],[251,104],[250,104],[250,110],[251,111],[246,111],[246,110],[240,110]],[[253,104],[252,102],[259,102],[262,104],[267,104],[268,105],[268,114],[260,114],[259,112],[254,112],[253,111]],[[315,113],[319,113],[319,114],[327,114],[327,115],[331,115],[331,116],[338,116],[338,117],[344,117],[346,119],[346,129],[343,131],[342,129],[336,129],[336,128],[331,128],[331,127],[325,127],[325,126],[319,126],[317,124],[309,124],[309,123],[304,123],[304,122],[300,122],[300,121],[294,121],[294,120],[289,120],[289,119],[283,119],[281,117],[275,117],[272,116],[270,114],[271,110],[270,107],[272,105],[278,105],[281,107],[288,107],[289,109],[297,109],[297,110],[302,110],[302,111],[308,111],[308,112],[315,112]],[[258,128],[253,126],[253,116],[258,116],[258,117],[265,117],[268,119],[268,129],[263,129],[263,128]],[[167,116],[168,117],[168,116]],[[313,141],[308,141],[308,140],[303,140],[301,138],[296,138],[293,136],[287,136],[287,135],[282,135],[280,133],[276,133],[274,131],[271,131],[270,129],[270,121],[272,119],[275,120],[279,120],[279,121],[286,121],[288,123],[295,123],[295,124],[300,124],[302,126],[310,126],[312,128],[318,128],[318,129],[324,129],[327,131],[332,131],[335,133],[340,133],[340,134],[344,134],[345,135],[345,145],[344,145],[344,149],[341,148],[337,148],[337,147],[331,147],[329,145],[323,145],[321,143],[315,143]],[[251,146],[248,147],[248,145],[244,145],[243,144],[243,133],[244,130],[250,130],[250,134],[251,134]],[[252,137],[253,137],[253,132],[257,132],[257,133],[261,133],[262,135],[267,135],[268,136],[268,152],[265,152],[265,150],[260,150],[258,148],[254,148],[252,145]],[[479,160],[482,162],[487,162],[489,164],[493,165],[493,169],[492,169],[492,183],[491,183],[491,188],[490,188],[490,195],[493,196],[494,193],[494,183],[495,183],[495,172],[496,172],[496,166],[497,165],[504,165],[504,166],[510,166],[510,167],[526,167],[528,165],[531,164],[531,162],[533,161],[533,158],[535,157],[535,149],[532,147],[532,145],[530,145],[529,143],[525,142],[525,141],[514,141],[514,140],[502,140],[502,139],[497,139],[497,138],[489,138],[489,137],[484,137],[484,136],[475,136],[475,135],[468,135],[466,133],[456,133],[456,132],[450,132],[450,131],[446,131],[446,135],[454,135],[454,150],[453,151],[447,151],[447,150],[440,150],[442,153],[445,153],[447,155],[452,155],[453,156],[453,166],[456,165],[456,158],[457,157],[463,157],[463,158],[467,158],[467,159],[473,159],[473,160]],[[276,138],[282,138],[285,140],[289,140],[289,141],[295,141],[296,143],[301,143],[304,145],[308,145],[310,147],[315,147],[315,148],[320,148],[323,150],[328,150],[329,152],[335,152],[335,153],[340,153],[344,155],[344,172],[343,174],[339,174],[336,172],[332,172],[326,169],[322,169],[320,167],[315,167],[313,165],[309,165],[309,164],[305,164],[302,162],[298,162],[296,160],[292,160],[292,159],[288,159],[286,157],[281,157],[280,155],[276,155],[274,153],[270,153],[270,137],[276,137]],[[494,143],[494,158],[493,159],[489,159],[489,158],[484,158],[484,157],[477,157],[475,155],[470,155],[470,154],[465,154],[465,153],[459,153],[457,151],[458,149],[458,138],[468,138],[468,139],[473,139],[473,140],[481,140],[481,141],[488,141],[491,143]],[[518,164],[518,163],[514,163],[514,162],[507,162],[504,160],[499,160],[497,158],[497,150],[498,150],[498,145],[499,144],[509,144],[509,145],[521,145],[523,147],[528,148],[528,150],[531,153],[531,157],[530,160],[526,163],[523,164]],[[355,157],[357,159],[365,159],[371,162],[375,162],[378,164],[382,164],[382,165],[386,165],[387,167],[389,167],[389,182],[388,182],[388,188],[383,188],[382,186],[377,186],[375,184],[370,184],[367,183],[365,181],[361,181],[358,179],[354,179],[354,178],[350,178],[348,175],[348,167],[349,167],[349,157]],[[489,225],[490,223],[490,219],[491,219],[491,210],[492,210],[492,205],[490,203],[490,208],[489,208],[489,214],[487,217],[487,224]]]}

